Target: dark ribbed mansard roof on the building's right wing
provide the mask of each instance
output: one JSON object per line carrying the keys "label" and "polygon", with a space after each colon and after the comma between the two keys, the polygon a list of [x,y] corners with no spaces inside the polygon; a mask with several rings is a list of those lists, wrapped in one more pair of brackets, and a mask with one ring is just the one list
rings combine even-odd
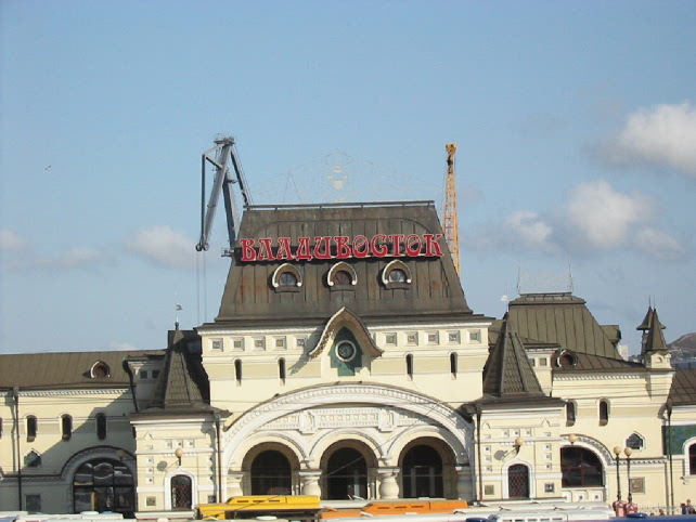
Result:
{"label": "dark ribbed mansard roof on the building's right wing", "polygon": [[621,358],[585,301],[570,293],[523,295],[510,303],[510,316],[520,337],[557,343],[576,354]]}

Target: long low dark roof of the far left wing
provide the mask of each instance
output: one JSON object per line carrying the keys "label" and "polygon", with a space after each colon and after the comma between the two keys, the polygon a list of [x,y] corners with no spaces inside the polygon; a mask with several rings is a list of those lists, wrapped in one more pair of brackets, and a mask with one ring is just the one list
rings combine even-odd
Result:
{"label": "long low dark roof of the far left wing", "polygon": [[[119,388],[130,384],[125,358],[164,356],[164,350],[22,353],[0,355],[0,388],[74,389]],[[108,366],[106,377],[92,377],[96,363]]]}

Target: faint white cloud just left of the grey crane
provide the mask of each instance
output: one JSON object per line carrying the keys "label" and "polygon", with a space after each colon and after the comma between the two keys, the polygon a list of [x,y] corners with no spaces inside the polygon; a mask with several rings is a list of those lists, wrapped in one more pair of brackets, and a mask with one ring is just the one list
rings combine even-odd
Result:
{"label": "faint white cloud just left of the grey crane", "polygon": [[195,243],[169,226],[142,229],[136,232],[127,247],[159,266],[179,270],[195,267]]}

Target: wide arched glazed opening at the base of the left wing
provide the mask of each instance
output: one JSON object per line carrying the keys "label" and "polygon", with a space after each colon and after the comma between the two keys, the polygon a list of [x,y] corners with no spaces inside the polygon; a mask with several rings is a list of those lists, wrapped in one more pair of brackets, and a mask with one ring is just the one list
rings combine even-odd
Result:
{"label": "wide arched glazed opening at the base of the left wing", "polygon": [[108,458],[89,460],[73,478],[73,507],[81,511],[115,511],[132,518],[136,511],[133,475],[125,464]]}

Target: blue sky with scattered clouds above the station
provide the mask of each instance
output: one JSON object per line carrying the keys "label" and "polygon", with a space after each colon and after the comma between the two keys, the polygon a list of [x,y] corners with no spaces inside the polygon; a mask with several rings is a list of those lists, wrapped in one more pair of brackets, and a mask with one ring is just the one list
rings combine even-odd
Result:
{"label": "blue sky with scattered clouds above the station", "polygon": [[257,204],[440,204],[457,143],[475,312],[571,273],[632,352],[649,300],[668,341],[696,330],[695,2],[27,0],[0,24],[0,352],[215,317],[218,133]]}

